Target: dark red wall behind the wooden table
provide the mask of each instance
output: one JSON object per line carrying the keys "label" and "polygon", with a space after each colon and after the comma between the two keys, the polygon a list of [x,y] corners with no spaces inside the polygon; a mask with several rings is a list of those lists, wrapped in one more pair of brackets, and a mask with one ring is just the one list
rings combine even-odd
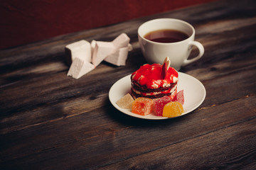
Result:
{"label": "dark red wall behind the wooden table", "polygon": [[0,0],[0,49],[213,0]]}

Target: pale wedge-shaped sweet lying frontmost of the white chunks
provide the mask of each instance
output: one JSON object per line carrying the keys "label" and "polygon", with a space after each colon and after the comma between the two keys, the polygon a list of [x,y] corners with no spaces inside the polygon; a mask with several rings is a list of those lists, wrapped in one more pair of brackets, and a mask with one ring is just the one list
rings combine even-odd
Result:
{"label": "pale wedge-shaped sweet lying frontmost of the white chunks", "polygon": [[92,69],[95,69],[93,64],[76,57],[75,60],[73,60],[67,75],[75,79],[79,79],[83,75],[87,74],[87,72],[92,71]]}

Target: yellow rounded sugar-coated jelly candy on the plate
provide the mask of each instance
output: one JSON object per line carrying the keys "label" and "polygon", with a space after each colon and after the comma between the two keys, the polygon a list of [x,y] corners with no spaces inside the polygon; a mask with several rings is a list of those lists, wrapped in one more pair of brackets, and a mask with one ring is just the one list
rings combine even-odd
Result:
{"label": "yellow rounded sugar-coated jelly candy on the plate", "polygon": [[184,112],[183,106],[178,101],[172,101],[164,106],[163,116],[174,118]]}

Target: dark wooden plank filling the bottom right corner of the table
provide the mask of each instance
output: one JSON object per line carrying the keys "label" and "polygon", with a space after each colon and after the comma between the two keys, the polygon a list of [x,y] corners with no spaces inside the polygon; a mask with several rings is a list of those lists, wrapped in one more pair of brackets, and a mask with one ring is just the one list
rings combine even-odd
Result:
{"label": "dark wooden plank filling the bottom right corner of the table", "polygon": [[254,169],[255,123],[253,119],[174,145],[166,144],[101,169]]}

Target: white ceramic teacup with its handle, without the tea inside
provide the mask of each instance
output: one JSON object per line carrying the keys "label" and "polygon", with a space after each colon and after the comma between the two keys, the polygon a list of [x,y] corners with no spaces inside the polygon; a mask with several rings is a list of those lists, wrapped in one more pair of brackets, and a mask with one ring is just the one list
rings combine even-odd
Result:
{"label": "white ceramic teacup with its handle, without the tea inside", "polygon": [[[178,30],[188,35],[188,38],[178,42],[154,42],[148,40],[144,36],[155,30]],[[173,18],[159,18],[143,23],[138,29],[139,45],[147,62],[160,63],[164,62],[166,57],[171,60],[171,67],[176,70],[181,66],[195,62],[203,56],[204,48],[200,42],[194,41],[195,29],[191,24]],[[199,50],[197,57],[188,60],[192,46],[196,46]]]}

